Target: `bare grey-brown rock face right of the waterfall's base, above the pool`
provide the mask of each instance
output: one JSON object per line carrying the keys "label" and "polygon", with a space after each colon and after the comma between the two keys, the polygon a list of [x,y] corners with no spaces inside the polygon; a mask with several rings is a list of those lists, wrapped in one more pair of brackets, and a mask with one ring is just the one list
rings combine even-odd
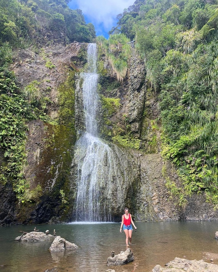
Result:
{"label": "bare grey-brown rock face right of the waterfall's base, above the pool", "polygon": [[[139,154],[134,153],[136,158]],[[175,220],[218,220],[218,212],[206,203],[204,193],[187,196],[185,206],[178,205],[178,198],[172,198],[166,188],[166,176],[182,187],[176,169],[170,162],[164,162],[160,154],[142,154],[140,160],[141,182],[137,194],[135,219],[138,221],[175,221]],[[166,176],[163,175],[166,169]]]}

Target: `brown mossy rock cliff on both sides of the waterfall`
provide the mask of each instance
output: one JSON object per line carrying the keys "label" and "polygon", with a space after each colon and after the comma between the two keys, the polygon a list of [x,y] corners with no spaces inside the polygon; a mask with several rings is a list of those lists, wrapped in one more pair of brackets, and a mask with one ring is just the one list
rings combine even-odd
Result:
{"label": "brown mossy rock cliff on both sides of the waterfall", "polygon": [[[28,49],[14,54],[11,69],[18,76],[20,87],[34,80],[39,82],[41,94],[49,97],[51,103],[45,110],[48,119],[32,120],[28,124],[25,178],[32,201],[18,205],[10,183],[0,184],[1,225],[63,222],[72,218],[77,175],[74,144],[84,128],[81,86],[76,85],[78,73],[86,62],[86,48],[84,43],[73,42],[67,46],[59,43],[44,46],[37,52]],[[166,188],[169,180],[178,187],[182,185],[176,170],[161,158],[158,94],[147,86],[145,65],[134,43],[131,50],[128,71],[121,82],[115,78],[106,57],[99,57],[105,71],[99,76],[99,95],[120,101],[118,110],[109,111],[100,99],[100,134],[112,141],[117,131],[122,131],[122,140],[131,140],[133,145],[131,148],[116,143],[134,166],[134,171],[128,173],[134,185],[131,192],[125,192],[125,206],[131,206],[137,221],[217,220],[218,213],[206,203],[204,194],[189,196],[186,205],[179,206],[178,197]],[[54,65],[52,69],[46,67],[47,59]],[[139,143],[139,149],[133,143]],[[2,156],[1,160],[4,160]],[[119,220],[121,213],[119,206],[114,217]]]}

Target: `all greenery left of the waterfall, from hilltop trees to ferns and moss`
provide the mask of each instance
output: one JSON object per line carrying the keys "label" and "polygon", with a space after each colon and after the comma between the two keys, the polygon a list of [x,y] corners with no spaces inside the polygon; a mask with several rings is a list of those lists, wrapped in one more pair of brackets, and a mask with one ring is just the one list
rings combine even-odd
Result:
{"label": "all greenery left of the waterfall, from hilltop trees to ferns and moss", "polygon": [[[54,64],[42,48],[45,44],[58,42],[60,37],[66,44],[74,40],[92,41],[95,38],[93,24],[86,24],[82,11],[70,9],[68,2],[0,0],[0,182],[12,184],[19,203],[34,200],[36,191],[38,196],[42,191],[40,185],[35,190],[30,190],[29,181],[25,179],[27,121],[45,121],[50,131],[55,131],[54,135],[59,130],[64,131],[62,125],[67,123],[73,134],[74,90],[71,71],[67,81],[57,90],[59,116],[51,119],[46,114],[48,104],[53,104],[47,95],[51,88],[42,91],[41,82],[34,80],[20,89],[16,75],[10,70],[13,50],[31,48],[36,52],[40,51],[45,66],[54,69]],[[68,131],[67,133],[69,134]],[[38,154],[35,155],[39,156],[39,149],[37,151]],[[65,161],[67,159],[64,158]],[[64,163],[67,164],[68,161]]]}

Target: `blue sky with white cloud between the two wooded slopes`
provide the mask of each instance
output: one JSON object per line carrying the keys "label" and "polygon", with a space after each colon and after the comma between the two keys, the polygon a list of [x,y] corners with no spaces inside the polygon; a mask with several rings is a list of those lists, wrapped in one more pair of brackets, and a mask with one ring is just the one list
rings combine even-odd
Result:
{"label": "blue sky with white cloud between the two wooded slopes", "polygon": [[81,9],[86,23],[93,23],[96,35],[108,38],[108,31],[117,25],[116,16],[135,0],[73,0],[71,9]]}

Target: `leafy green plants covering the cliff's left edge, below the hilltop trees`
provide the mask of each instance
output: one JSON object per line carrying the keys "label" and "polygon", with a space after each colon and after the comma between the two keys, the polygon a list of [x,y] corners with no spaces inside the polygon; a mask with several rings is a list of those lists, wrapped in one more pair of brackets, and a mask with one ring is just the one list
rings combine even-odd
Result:
{"label": "leafy green plants covering the cliff's left edge, below the hilltop trees", "polygon": [[[34,191],[30,191],[24,176],[27,164],[26,122],[40,118],[40,114],[44,116],[43,111],[51,101],[41,95],[40,83],[37,81],[32,81],[24,90],[19,90],[14,73],[8,70],[8,64],[11,63],[10,50],[9,44],[5,43],[0,53],[0,147],[4,154],[4,162],[0,166],[0,181],[11,182],[19,203],[24,203],[36,196]],[[36,106],[42,110],[35,108]]]}

